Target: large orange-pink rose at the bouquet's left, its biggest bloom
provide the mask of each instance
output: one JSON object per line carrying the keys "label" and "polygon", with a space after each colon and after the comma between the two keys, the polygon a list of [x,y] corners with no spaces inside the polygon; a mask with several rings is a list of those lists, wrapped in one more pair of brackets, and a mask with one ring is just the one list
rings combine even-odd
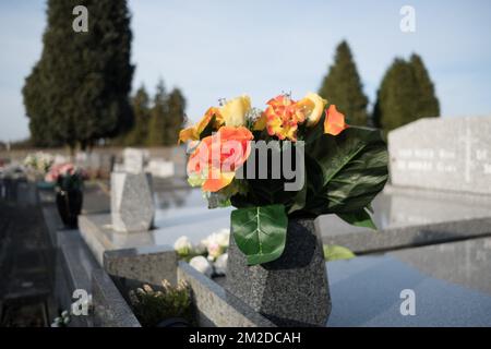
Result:
{"label": "large orange-pink rose at the bouquet's left, its biggest bloom", "polygon": [[230,184],[236,170],[251,154],[251,131],[244,127],[221,127],[204,137],[188,161],[189,181],[205,192],[217,192]]}

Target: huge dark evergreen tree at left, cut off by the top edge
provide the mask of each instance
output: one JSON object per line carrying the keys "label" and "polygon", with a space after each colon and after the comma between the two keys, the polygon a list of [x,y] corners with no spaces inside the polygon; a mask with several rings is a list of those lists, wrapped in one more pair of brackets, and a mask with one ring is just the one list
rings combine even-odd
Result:
{"label": "huge dark evergreen tree at left, cut off by the top edge", "polygon": [[[76,5],[88,10],[87,33],[72,28]],[[37,64],[41,105],[26,100],[32,131],[36,133],[37,125],[49,119],[49,137],[73,149],[130,129],[133,117],[128,94],[134,68],[130,64],[127,1],[48,0],[47,16]]]}

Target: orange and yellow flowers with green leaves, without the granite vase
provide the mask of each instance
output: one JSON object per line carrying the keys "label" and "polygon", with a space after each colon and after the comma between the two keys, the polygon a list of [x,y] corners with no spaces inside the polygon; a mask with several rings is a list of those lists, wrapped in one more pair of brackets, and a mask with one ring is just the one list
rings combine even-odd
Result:
{"label": "orange and yellow flowers with green leaves, without the granite vase", "polygon": [[180,132],[189,142],[189,183],[211,208],[232,205],[235,242],[249,265],[285,249],[288,221],[335,214],[375,228],[370,203],[387,180],[387,152],[376,130],[350,127],[316,94],[279,95],[265,110],[248,96],[209,108]]}

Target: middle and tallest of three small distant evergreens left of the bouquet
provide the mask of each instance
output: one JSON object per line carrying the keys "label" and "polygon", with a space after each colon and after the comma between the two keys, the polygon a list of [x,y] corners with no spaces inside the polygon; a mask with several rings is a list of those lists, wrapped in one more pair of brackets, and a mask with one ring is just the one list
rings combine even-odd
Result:
{"label": "middle and tallest of three small distant evergreens left of the bouquet", "polygon": [[149,146],[165,145],[167,118],[168,118],[167,93],[164,86],[164,81],[160,80],[157,84],[157,89],[154,97],[154,105],[152,106],[151,109],[147,145]]}

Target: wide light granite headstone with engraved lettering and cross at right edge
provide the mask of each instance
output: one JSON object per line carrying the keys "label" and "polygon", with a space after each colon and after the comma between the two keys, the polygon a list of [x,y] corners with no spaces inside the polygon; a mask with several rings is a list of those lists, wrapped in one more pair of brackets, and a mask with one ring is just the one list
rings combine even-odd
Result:
{"label": "wide light granite headstone with engraved lettering and cross at right edge", "polygon": [[393,185],[491,194],[491,117],[420,119],[388,133]]}

